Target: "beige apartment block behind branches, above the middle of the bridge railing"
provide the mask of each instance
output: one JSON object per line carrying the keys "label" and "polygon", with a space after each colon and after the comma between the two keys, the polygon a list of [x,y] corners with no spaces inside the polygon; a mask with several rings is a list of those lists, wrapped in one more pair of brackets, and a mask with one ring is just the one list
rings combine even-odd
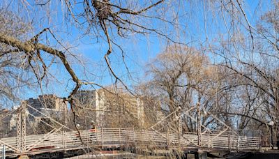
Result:
{"label": "beige apartment block behind branches, above the middle of the bridge railing", "polygon": [[75,111],[100,127],[144,125],[142,100],[125,91],[98,89],[78,91],[75,96]]}

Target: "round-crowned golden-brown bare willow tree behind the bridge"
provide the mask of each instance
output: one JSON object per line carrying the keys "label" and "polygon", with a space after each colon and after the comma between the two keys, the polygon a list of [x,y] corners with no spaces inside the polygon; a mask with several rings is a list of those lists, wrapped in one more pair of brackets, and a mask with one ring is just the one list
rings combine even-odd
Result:
{"label": "round-crowned golden-brown bare willow tree behind the bridge", "polygon": [[[148,66],[149,96],[160,101],[167,114],[174,114],[169,123],[177,120],[179,107],[186,111],[200,103],[206,111],[220,109],[215,106],[216,90],[221,86],[218,84],[220,70],[210,63],[208,56],[195,48],[172,45],[158,54]],[[190,112],[190,115],[195,118],[197,114]],[[214,120],[206,116],[202,123],[209,126]],[[183,123],[187,131],[196,131],[193,119],[183,117]]]}

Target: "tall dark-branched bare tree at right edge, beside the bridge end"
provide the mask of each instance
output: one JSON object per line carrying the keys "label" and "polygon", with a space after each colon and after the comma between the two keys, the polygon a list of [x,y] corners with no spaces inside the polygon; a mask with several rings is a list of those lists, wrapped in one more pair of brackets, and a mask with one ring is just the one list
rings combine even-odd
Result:
{"label": "tall dark-branched bare tree at right edge, beside the bridge end", "polygon": [[[231,105],[234,109],[224,114],[239,116],[241,129],[270,132],[268,123],[273,121],[273,134],[278,134],[278,1],[273,4],[271,10],[259,17],[257,27],[246,17],[246,30],[236,31],[213,52],[223,59],[219,66],[228,70],[225,79],[235,79],[223,87],[237,95],[236,104]],[[238,6],[246,15],[243,3]]]}

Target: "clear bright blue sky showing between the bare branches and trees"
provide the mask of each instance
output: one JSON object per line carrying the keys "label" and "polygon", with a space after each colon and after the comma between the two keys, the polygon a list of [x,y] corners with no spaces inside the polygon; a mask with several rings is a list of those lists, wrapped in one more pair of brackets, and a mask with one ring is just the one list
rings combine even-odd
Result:
{"label": "clear bright blue sky showing between the bare branches and trees", "polygon": [[[96,82],[98,84],[110,85],[114,82],[114,78],[111,77],[103,56],[107,50],[107,43],[102,38],[97,38],[95,36],[84,35],[84,32],[80,32],[75,24],[69,24],[65,19],[66,12],[61,6],[60,1],[51,1],[50,5],[44,6],[44,8],[38,8],[38,6],[33,6],[31,0],[28,1],[29,5],[18,6],[19,3],[15,1],[4,1],[0,6],[9,6],[9,9],[21,15],[27,21],[32,21],[34,24],[33,34],[38,33],[38,31],[43,28],[49,27],[54,32],[56,38],[61,40],[64,45],[75,46],[70,52],[73,52],[83,63],[86,63],[86,69],[80,66],[80,63],[77,60],[70,58],[70,61],[73,62],[73,68],[75,69],[77,75],[80,79],[89,79],[91,82]],[[168,31],[174,31],[170,35],[174,40],[178,40],[182,43],[189,43],[192,47],[207,47],[205,40],[206,34],[208,42],[218,40],[219,34],[223,33],[227,36],[225,27],[223,24],[223,19],[220,18],[220,13],[216,12],[216,15],[213,15],[211,12],[207,12],[209,8],[205,8],[206,13],[204,13],[203,1],[197,1],[193,3],[183,3],[179,6],[179,3],[174,5],[173,8],[166,10],[166,15],[172,16],[173,11],[180,9],[178,13],[178,18],[176,22],[179,22],[177,31],[176,28],[169,24],[162,24],[158,20],[149,21],[153,27],[160,28],[165,33]],[[206,2],[207,3],[207,2]],[[251,24],[255,24],[257,18],[260,14],[265,12],[269,6],[270,1],[261,1],[258,6],[258,1],[246,1],[246,5],[243,6],[243,9],[246,11],[248,20]],[[218,6],[214,6],[218,8]],[[256,8],[259,7],[262,11],[255,13]],[[77,11],[79,8],[75,8]],[[214,8],[213,8],[214,9]],[[255,15],[256,14],[256,15]],[[168,15],[167,15],[168,16]],[[206,17],[206,24],[204,24],[204,17]],[[206,26],[206,27],[204,27]],[[206,31],[205,31],[206,29]],[[62,49],[61,45],[57,45],[54,38],[47,34],[50,45],[58,49]],[[42,39],[45,38],[43,35]],[[120,38],[119,36],[114,38],[118,45],[121,45],[121,48],[125,52],[126,64],[130,70],[130,73],[133,75],[133,78],[128,76],[125,66],[121,58],[120,50],[114,45],[114,52],[110,55],[112,60],[112,67],[114,68],[115,73],[123,79],[126,84],[137,84],[137,82],[144,81],[144,70],[146,68],[146,63],[150,62],[151,59],[155,58],[157,54],[163,52],[167,41],[165,38],[156,35],[156,33],[151,33],[149,35],[130,35],[128,38]],[[44,40],[43,40],[44,42]],[[211,56],[211,55],[209,55]],[[214,56],[211,56],[212,61]],[[84,70],[85,74],[84,75]],[[69,76],[66,75],[65,69],[60,64],[55,64],[51,67],[50,73],[56,77],[52,79],[50,84],[43,89],[43,92],[40,90],[30,90],[24,94],[24,98],[35,97],[41,93],[55,93],[59,96],[68,96],[68,92],[73,88],[73,83],[69,82]],[[68,83],[69,82],[69,83]],[[57,84],[59,83],[59,84]],[[68,85],[68,86],[67,86]],[[89,86],[84,86],[83,89],[92,89]]]}

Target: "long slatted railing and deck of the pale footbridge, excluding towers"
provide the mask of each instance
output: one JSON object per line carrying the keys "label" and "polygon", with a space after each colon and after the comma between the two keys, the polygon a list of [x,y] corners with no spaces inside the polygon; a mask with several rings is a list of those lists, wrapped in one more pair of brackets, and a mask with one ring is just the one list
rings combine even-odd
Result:
{"label": "long slatted railing and deck of the pale footbridge, excluding towers", "polygon": [[[61,127],[62,128],[62,127]],[[216,149],[229,151],[259,151],[260,137],[240,136],[234,132],[211,132],[202,134],[198,142],[195,132],[177,134],[156,130],[135,130],[134,128],[98,128],[71,132],[49,132],[43,135],[26,136],[25,145],[19,146],[18,137],[0,139],[6,146],[6,156],[33,156],[38,153],[68,151],[77,149],[129,148],[146,146],[149,149]]]}

